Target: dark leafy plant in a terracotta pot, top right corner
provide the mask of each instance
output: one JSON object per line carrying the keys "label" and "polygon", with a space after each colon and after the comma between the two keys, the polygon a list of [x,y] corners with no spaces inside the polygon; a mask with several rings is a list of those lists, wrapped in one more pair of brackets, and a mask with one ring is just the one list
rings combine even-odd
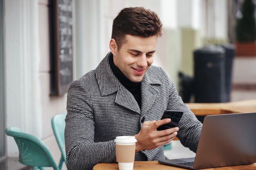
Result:
{"label": "dark leafy plant in a terracotta pot, top right corner", "polygon": [[242,16],[236,25],[236,55],[256,57],[256,22],[253,0],[244,0]]}

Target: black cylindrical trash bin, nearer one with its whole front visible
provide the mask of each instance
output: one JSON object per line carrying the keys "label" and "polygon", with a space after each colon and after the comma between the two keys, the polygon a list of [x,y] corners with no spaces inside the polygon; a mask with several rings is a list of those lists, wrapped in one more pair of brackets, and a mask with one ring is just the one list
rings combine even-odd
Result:
{"label": "black cylindrical trash bin, nearer one with its whole front visible", "polygon": [[209,45],[193,54],[195,102],[226,102],[225,50],[221,46]]}

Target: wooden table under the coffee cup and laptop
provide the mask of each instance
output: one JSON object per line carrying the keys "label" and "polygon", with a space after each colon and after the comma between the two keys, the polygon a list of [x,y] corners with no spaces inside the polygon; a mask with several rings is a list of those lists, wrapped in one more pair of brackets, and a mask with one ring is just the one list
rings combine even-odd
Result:
{"label": "wooden table under the coffee cup and laptop", "polygon": [[[158,163],[158,161],[141,161],[134,162],[134,170],[186,170],[175,166],[167,166]],[[118,170],[117,163],[98,163],[93,167],[93,170]],[[256,164],[227,166],[220,168],[208,168],[204,170],[256,170]]]}

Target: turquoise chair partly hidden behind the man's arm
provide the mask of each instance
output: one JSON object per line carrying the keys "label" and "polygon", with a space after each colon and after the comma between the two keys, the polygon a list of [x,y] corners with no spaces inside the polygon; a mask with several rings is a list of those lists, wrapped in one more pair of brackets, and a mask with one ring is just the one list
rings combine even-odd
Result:
{"label": "turquoise chair partly hidden behind the man's arm", "polygon": [[58,114],[52,117],[52,130],[54,132],[54,136],[58,143],[58,147],[61,150],[61,159],[58,168],[61,170],[63,162],[66,162],[66,151],[65,151],[65,139],[64,139],[64,131],[65,131],[65,117],[67,114]]}

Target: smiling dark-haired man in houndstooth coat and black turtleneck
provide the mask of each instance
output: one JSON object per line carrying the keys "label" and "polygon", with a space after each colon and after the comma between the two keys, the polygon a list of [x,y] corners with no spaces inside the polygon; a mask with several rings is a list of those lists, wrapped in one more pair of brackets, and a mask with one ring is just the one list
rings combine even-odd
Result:
{"label": "smiling dark-haired man in houndstooth coat and black turtleneck", "polygon": [[[135,161],[167,159],[163,145],[175,136],[196,152],[202,124],[164,70],[151,66],[161,31],[156,13],[142,7],[123,9],[113,22],[111,52],[70,85],[65,127],[70,170],[116,162],[117,136],[136,137]],[[171,121],[160,120],[165,110],[184,112],[179,128],[156,130]]]}

